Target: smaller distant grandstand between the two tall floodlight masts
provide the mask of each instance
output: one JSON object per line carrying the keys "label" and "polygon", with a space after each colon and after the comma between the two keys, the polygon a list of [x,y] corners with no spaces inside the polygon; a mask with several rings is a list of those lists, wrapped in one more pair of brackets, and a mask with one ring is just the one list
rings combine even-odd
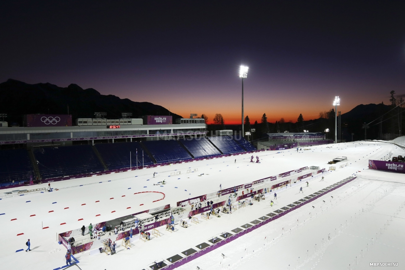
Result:
{"label": "smaller distant grandstand between the two tall floodlight masts", "polygon": [[256,141],[256,144],[257,149],[284,150],[300,146],[333,144],[333,140],[325,139],[325,135],[320,132],[267,133],[267,136]]}

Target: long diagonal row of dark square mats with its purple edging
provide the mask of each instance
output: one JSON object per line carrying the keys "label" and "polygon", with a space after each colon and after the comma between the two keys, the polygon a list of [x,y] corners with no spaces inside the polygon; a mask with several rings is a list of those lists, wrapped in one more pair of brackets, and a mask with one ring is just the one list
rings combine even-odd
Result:
{"label": "long diagonal row of dark square mats with its purple edging", "polygon": [[[314,201],[315,199],[318,199],[319,197],[329,193],[330,191],[333,191],[335,189],[338,189],[339,187],[343,186],[344,184],[347,184],[348,182],[351,182],[352,180],[356,179],[356,176],[350,176],[348,178],[345,178],[335,184],[332,184],[330,186],[327,186],[326,188],[317,191],[311,195],[308,195],[304,197],[303,199],[299,199],[298,201],[294,201],[292,204],[289,204],[288,206],[284,206],[281,209],[275,210],[274,212],[271,212],[269,214],[265,214],[264,216],[259,217],[258,219],[251,221],[249,223],[246,223],[244,225],[241,225],[235,229],[232,229],[228,233],[228,237],[225,238],[224,234],[219,236],[217,240],[214,242],[211,240],[207,242],[203,242],[200,244],[197,244],[196,246],[185,250],[181,253],[178,253],[172,257],[169,257],[165,260],[162,261],[156,261],[156,263],[161,263],[162,262],[162,267],[159,269],[173,269],[177,268],[179,266],[182,266],[183,264],[188,263],[189,261],[192,261],[194,259],[197,259],[198,257],[205,255],[209,253],[210,251],[213,251],[220,246],[224,246],[225,244],[261,227],[262,225],[265,225],[271,221],[274,221],[281,216],[284,216],[301,206],[308,204],[311,201]],[[150,269],[157,269],[155,264],[151,264],[149,266]],[[147,269],[143,269],[147,270]]]}

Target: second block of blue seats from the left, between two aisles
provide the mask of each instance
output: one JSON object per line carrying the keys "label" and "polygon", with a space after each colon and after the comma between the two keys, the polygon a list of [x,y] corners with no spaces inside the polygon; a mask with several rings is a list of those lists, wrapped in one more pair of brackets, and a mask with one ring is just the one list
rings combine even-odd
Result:
{"label": "second block of blue seats from the left, between two aisles", "polygon": [[34,156],[43,179],[104,171],[90,145],[39,148]]}

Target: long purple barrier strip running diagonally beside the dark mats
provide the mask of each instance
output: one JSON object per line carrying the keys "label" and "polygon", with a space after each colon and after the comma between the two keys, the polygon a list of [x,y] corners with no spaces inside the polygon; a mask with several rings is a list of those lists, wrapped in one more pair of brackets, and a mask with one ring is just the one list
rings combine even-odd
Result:
{"label": "long purple barrier strip running diagonally beside the dark mats", "polygon": [[201,249],[200,251],[197,251],[196,253],[188,255],[187,257],[185,257],[185,258],[183,258],[183,259],[181,259],[179,261],[175,261],[173,264],[169,264],[168,266],[165,266],[165,267],[163,267],[161,269],[169,269],[169,268],[173,269],[173,268],[177,268],[179,266],[182,266],[183,264],[186,264],[189,261],[197,259],[198,257],[203,256],[203,255],[209,253],[210,251],[213,251],[214,249],[217,249],[220,246],[223,246],[224,244],[227,244],[227,243],[229,243],[229,242],[231,242],[231,241],[233,241],[233,240],[235,240],[235,239],[237,239],[237,238],[239,238],[239,237],[253,231],[254,229],[257,229],[257,228],[263,226],[264,224],[267,224],[267,223],[269,223],[269,222],[271,222],[271,221],[273,221],[275,219],[279,219],[281,216],[284,216],[285,214],[288,214],[289,212],[291,212],[291,211],[293,211],[293,210],[295,210],[297,208],[300,208],[301,206],[303,206],[305,204],[308,204],[309,202],[311,202],[311,201],[325,195],[326,193],[329,193],[330,191],[333,191],[333,190],[343,186],[344,184],[347,184],[348,182],[350,182],[350,181],[352,181],[354,179],[356,179],[356,177],[354,177],[354,178],[340,184],[339,186],[335,186],[332,189],[329,189],[328,191],[325,191],[324,193],[321,193],[321,194],[319,194],[319,195],[317,195],[315,197],[312,197],[311,199],[308,199],[307,201],[304,201],[302,204],[298,204],[297,206],[293,206],[292,208],[290,208],[290,209],[288,209],[288,210],[286,210],[284,212],[281,212],[280,214],[277,214],[276,216],[273,216],[273,217],[271,217],[269,219],[266,219],[265,221],[261,221],[260,223],[258,223],[256,225],[253,225],[250,228],[244,229],[243,231],[240,231],[239,233],[236,233],[236,234],[234,234],[232,236],[229,236],[228,238],[226,238],[224,240],[221,240],[221,241],[219,241],[219,242],[217,242],[217,243],[215,243],[213,245],[207,246],[205,249]]}

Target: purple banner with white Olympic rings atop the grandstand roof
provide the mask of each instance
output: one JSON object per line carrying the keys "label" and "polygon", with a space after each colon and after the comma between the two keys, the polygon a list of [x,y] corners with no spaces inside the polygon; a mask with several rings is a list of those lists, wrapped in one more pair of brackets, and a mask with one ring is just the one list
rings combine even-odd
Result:
{"label": "purple banner with white Olympic rings atop the grandstand roof", "polygon": [[26,126],[72,126],[72,116],[67,114],[26,114]]}

